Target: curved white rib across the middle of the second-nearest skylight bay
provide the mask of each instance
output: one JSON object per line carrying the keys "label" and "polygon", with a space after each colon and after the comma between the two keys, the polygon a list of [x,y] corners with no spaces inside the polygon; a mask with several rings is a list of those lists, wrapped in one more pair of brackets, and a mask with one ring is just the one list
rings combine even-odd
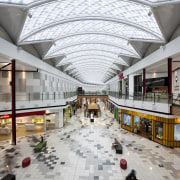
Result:
{"label": "curved white rib across the middle of the second-nearest skylight bay", "polygon": [[[104,46],[109,46],[109,47],[115,47],[115,48],[118,48],[119,51],[120,51],[120,50],[123,50],[124,52],[125,52],[125,51],[129,52],[129,54],[127,53],[127,56],[132,56],[132,57],[140,58],[140,56],[139,56],[138,54],[132,52],[132,51],[129,50],[129,49],[126,49],[126,48],[124,48],[124,47],[122,47],[122,46],[116,46],[116,45],[114,45],[114,44],[110,44],[110,43],[107,44],[107,43],[103,43],[103,42],[83,42],[83,43],[76,43],[76,44],[68,45],[68,46],[65,46],[65,47],[56,49],[56,50],[53,51],[53,52],[47,53],[47,54],[45,55],[45,57],[46,57],[46,56],[47,56],[47,57],[48,57],[48,56],[51,56],[51,55],[55,54],[55,53],[58,52],[58,51],[61,52],[62,50],[65,50],[65,49],[67,49],[67,48],[73,48],[73,47],[75,47],[75,46],[91,45],[91,44],[93,44],[93,45],[104,45]],[[66,51],[65,51],[64,53],[66,53]],[[121,54],[121,53],[119,53],[119,54]],[[124,53],[124,54],[126,54],[126,53]]]}

